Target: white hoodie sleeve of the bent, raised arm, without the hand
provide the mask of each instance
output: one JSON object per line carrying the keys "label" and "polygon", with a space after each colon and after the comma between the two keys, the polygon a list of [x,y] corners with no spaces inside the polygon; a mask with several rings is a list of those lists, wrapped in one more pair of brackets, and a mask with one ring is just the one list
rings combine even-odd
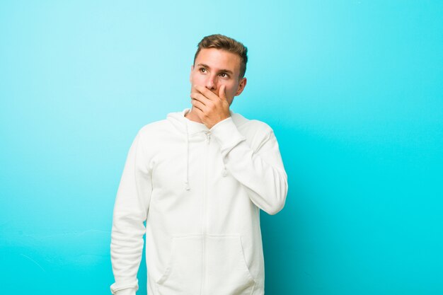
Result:
{"label": "white hoodie sleeve of the bent, raised arm, without the hand", "polygon": [[220,145],[226,168],[248,190],[251,201],[267,214],[277,214],[286,200],[287,174],[274,132],[267,129],[255,150],[231,117],[214,125],[211,133]]}

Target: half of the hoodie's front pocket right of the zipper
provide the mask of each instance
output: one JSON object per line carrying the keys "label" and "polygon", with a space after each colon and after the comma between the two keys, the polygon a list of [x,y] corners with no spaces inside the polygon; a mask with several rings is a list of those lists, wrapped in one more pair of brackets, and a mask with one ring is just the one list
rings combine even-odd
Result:
{"label": "half of the hoodie's front pocket right of the zipper", "polygon": [[206,292],[210,295],[250,295],[255,281],[246,265],[240,236],[207,237]]}

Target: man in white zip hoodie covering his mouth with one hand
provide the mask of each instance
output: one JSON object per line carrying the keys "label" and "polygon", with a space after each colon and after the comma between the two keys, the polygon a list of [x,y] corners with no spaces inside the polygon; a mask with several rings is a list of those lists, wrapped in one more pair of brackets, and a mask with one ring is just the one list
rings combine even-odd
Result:
{"label": "man in white zip hoodie covering his mouth with one hand", "polygon": [[113,294],[137,291],[144,233],[148,294],[264,294],[260,209],[282,209],[287,175],[272,129],[229,110],[247,59],[234,39],[203,38],[192,108],[135,137],[114,208]]}

